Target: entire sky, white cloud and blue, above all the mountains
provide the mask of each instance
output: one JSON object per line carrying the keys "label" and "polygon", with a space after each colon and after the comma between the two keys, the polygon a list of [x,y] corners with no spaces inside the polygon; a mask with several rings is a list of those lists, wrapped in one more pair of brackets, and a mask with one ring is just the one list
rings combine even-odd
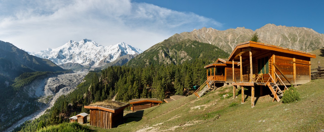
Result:
{"label": "entire sky, white cloud and blue, above all the mountains", "polygon": [[29,52],[91,39],[146,50],[181,32],[266,24],[324,33],[324,1],[0,0],[0,40]]}

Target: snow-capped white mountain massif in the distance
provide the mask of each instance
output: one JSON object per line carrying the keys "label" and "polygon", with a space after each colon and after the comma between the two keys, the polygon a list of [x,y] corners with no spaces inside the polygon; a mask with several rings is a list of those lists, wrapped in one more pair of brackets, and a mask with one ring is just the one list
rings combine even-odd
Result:
{"label": "snow-capped white mountain massif in the distance", "polygon": [[102,46],[95,41],[83,39],[80,42],[70,40],[58,48],[48,48],[38,53],[32,52],[30,55],[49,59],[57,65],[70,62],[79,63],[83,66],[98,67],[99,62],[102,65],[102,62],[109,63],[121,56],[127,54],[137,55],[142,52],[139,48],[132,47],[124,42]]}

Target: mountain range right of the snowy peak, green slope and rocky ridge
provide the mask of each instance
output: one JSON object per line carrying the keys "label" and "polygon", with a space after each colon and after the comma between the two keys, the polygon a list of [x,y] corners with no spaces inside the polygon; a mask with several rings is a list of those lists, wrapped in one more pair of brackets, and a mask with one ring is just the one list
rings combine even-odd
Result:
{"label": "mountain range right of the snowy peak, green slope and rocky ridge", "polygon": [[[267,24],[255,31],[244,27],[237,27],[236,29],[227,29],[224,31],[203,27],[198,30],[194,29],[192,32],[174,34],[168,39],[145,50],[126,65],[148,66],[153,63],[181,64],[184,60],[195,59],[195,54],[203,56],[211,52],[210,50],[208,50],[208,52],[205,52],[207,50],[203,50],[201,53],[195,53],[195,51],[200,50],[198,48],[202,47],[199,47],[197,43],[193,43],[193,41],[218,47],[218,49],[213,52],[214,54],[221,53],[222,51],[231,53],[237,44],[249,41],[255,32],[258,32],[258,42],[261,43],[305,52],[324,47],[324,34],[319,34],[313,29],[305,27],[287,27]],[[179,48],[183,43],[187,44]],[[191,45],[191,43],[196,45]]]}

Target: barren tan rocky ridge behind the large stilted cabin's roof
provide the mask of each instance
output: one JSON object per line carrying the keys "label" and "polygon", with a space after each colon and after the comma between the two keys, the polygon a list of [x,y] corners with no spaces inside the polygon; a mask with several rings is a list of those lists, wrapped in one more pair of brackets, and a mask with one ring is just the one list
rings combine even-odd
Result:
{"label": "barren tan rocky ridge behind the large stilted cabin's roof", "polygon": [[306,27],[288,27],[282,25],[267,24],[256,29],[237,27],[224,31],[203,27],[192,32],[175,34],[179,40],[191,39],[203,43],[209,43],[224,51],[231,53],[238,43],[249,41],[254,32],[259,33],[259,40],[275,46],[282,46],[295,50],[310,52],[324,47],[324,34],[319,34]]}

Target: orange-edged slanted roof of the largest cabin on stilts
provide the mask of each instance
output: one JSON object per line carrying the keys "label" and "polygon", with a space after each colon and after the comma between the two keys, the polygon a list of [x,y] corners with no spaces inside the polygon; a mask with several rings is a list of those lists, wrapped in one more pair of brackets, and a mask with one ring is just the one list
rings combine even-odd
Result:
{"label": "orange-edged slanted roof of the largest cabin on stilts", "polygon": [[[289,49],[289,48],[284,48],[284,47],[279,47],[279,46],[274,46],[274,45],[269,45],[269,44],[264,44],[264,43],[259,43],[259,42],[253,42],[253,41],[247,41],[244,43],[237,44],[231,55],[228,57],[228,60],[232,60],[236,55],[240,54],[241,51],[238,49],[241,48],[257,48],[257,49],[262,49],[262,50],[269,50],[269,51],[277,51],[277,52],[283,52],[287,54],[294,54],[294,55],[299,55],[299,56],[306,56],[310,58],[316,58],[316,55],[307,53],[304,51],[299,51],[299,50],[294,50],[294,49]],[[243,51],[242,51],[243,52]]]}

